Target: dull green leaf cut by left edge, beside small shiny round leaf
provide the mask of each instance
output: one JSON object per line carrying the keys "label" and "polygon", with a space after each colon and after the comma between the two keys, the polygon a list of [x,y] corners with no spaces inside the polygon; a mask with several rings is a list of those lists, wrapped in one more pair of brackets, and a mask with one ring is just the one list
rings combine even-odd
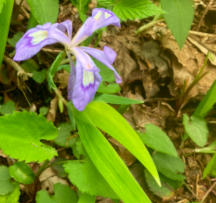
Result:
{"label": "dull green leaf cut by left edge, beside small shiny round leaf", "polygon": [[0,195],[7,195],[14,190],[9,169],[6,166],[0,166],[0,185]]}

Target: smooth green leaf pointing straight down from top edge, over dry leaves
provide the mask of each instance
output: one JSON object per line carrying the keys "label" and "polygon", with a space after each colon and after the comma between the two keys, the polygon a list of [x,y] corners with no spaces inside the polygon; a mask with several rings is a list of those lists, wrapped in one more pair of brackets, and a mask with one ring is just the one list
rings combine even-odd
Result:
{"label": "smooth green leaf pointing straight down from top edge, over dry leaves", "polygon": [[164,19],[181,49],[193,23],[193,0],[161,0],[162,9],[167,11]]}

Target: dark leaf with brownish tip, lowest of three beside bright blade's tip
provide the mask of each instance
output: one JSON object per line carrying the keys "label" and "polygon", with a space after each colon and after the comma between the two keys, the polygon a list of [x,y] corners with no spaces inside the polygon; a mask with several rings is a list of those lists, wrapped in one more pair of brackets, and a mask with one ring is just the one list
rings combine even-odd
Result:
{"label": "dark leaf with brownish tip, lowest of three beside bright blade's tip", "polygon": [[145,172],[146,182],[149,186],[149,189],[157,196],[161,197],[163,201],[169,200],[174,196],[174,189],[171,185],[166,182],[164,176],[160,176],[161,187],[156,183],[152,175],[147,171]]}

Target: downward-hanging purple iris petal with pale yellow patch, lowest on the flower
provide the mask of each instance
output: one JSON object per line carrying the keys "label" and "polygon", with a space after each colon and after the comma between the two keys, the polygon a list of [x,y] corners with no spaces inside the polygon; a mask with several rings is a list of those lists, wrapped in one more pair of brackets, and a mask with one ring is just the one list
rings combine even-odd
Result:
{"label": "downward-hanging purple iris petal with pale yellow patch, lowest on the flower", "polygon": [[75,108],[83,111],[94,98],[100,85],[101,76],[98,72],[86,71],[80,62],[76,61],[76,79],[73,87],[72,102]]}

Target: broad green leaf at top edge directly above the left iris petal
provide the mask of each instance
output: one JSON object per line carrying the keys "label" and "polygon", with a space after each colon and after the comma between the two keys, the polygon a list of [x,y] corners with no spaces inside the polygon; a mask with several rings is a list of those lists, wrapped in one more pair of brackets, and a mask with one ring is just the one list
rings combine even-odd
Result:
{"label": "broad green leaf at top edge directly above the left iris petal", "polygon": [[59,12],[58,0],[27,0],[31,12],[40,25],[55,23]]}

